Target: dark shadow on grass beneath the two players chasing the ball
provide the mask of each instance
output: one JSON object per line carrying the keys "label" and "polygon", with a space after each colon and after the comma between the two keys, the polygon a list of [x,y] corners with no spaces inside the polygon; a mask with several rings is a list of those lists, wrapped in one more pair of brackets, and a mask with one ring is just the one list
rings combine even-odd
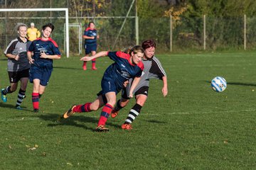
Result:
{"label": "dark shadow on grass beneath the two players chasing the ball", "polygon": [[[38,118],[41,118],[42,120],[47,120],[47,121],[52,121],[52,123],[49,123],[48,126],[50,127],[54,127],[54,126],[59,126],[59,125],[70,125],[70,126],[75,126],[78,128],[84,128],[86,130],[92,130],[95,131],[95,128],[90,128],[87,127],[84,124],[80,124],[80,123],[93,123],[95,125],[97,125],[98,123],[98,119],[97,118],[92,118],[86,115],[73,115],[72,117],[68,118],[68,119],[64,119],[61,122],[58,122],[59,115],[58,114],[47,114],[47,115],[38,115]],[[115,128],[119,128],[119,125],[115,125],[113,123],[106,123],[107,125],[110,125],[112,127]]]}

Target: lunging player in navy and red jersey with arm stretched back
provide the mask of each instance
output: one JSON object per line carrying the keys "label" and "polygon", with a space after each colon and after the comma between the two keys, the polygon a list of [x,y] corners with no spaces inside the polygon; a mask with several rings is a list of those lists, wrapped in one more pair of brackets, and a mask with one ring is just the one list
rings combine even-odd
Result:
{"label": "lunging player in navy and red jersey with arm stretched back", "polygon": [[105,128],[107,118],[110,116],[112,108],[116,103],[117,94],[124,88],[125,82],[130,78],[134,78],[131,86],[130,95],[132,97],[132,91],[139,83],[139,79],[142,76],[142,70],[144,65],[142,63],[142,57],[144,50],[141,46],[134,46],[127,53],[124,52],[98,52],[92,57],[82,57],[81,61],[90,61],[97,57],[108,56],[114,63],[108,67],[102,77],[101,86],[102,91],[97,94],[97,98],[92,103],[85,103],[84,105],[74,105],[67,112],[65,112],[58,120],[68,118],[75,113],[97,111],[98,108],[102,108],[100,120],[97,125],[97,132],[107,132],[109,129]]}

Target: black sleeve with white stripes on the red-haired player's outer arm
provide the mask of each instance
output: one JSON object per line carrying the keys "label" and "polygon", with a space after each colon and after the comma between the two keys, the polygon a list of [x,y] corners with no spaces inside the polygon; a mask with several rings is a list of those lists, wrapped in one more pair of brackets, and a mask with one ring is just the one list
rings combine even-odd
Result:
{"label": "black sleeve with white stripes on the red-haired player's outer arm", "polygon": [[156,57],[154,57],[152,59],[152,66],[149,70],[148,78],[162,79],[162,77],[166,77],[166,72],[164,71],[161,62]]}

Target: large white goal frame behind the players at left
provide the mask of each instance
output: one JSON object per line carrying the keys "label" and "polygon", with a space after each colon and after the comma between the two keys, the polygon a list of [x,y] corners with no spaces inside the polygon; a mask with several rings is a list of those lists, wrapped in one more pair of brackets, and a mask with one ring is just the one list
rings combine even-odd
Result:
{"label": "large white goal frame behind the players at left", "polygon": [[69,57],[69,31],[68,31],[68,8],[0,8],[0,12],[20,12],[20,11],[65,11],[65,42],[66,55]]}

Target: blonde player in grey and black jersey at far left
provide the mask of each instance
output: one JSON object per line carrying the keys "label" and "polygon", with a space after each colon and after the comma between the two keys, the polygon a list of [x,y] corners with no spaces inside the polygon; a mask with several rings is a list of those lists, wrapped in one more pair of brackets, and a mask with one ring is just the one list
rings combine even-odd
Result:
{"label": "blonde player in grey and black jersey at far left", "polygon": [[26,87],[28,84],[29,68],[27,50],[31,41],[26,38],[27,26],[20,24],[17,29],[18,38],[11,40],[8,47],[4,51],[4,55],[8,58],[7,71],[9,74],[10,86],[1,89],[1,99],[6,102],[7,94],[11,94],[18,88],[18,81],[21,81],[21,87],[18,91],[16,108],[21,108],[23,98],[25,98]]}

